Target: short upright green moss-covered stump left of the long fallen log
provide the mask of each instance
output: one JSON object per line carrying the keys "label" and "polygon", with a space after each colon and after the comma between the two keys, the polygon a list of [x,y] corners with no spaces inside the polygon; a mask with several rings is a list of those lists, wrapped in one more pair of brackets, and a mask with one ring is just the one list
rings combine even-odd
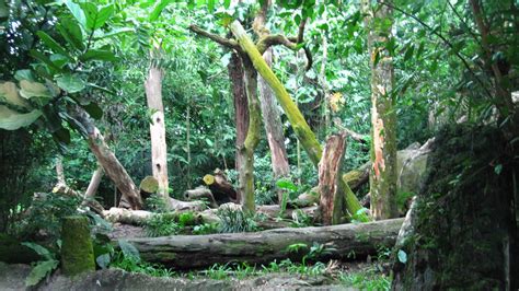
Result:
{"label": "short upright green moss-covered stump left of the long fallen log", "polygon": [[66,276],[95,270],[94,249],[85,217],[66,217],[61,229],[61,268]]}

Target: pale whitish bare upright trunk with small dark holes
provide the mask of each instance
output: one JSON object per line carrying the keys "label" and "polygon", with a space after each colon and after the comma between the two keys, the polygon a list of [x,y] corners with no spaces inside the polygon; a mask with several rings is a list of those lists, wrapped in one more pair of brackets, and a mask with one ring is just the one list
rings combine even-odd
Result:
{"label": "pale whitish bare upright trunk with small dark holes", "polygon": [[159,194],[168,193],[168,149],[165,144],[164,106],[162,105],[162,70],[151,65],[145,82],[148,108],[151,112],[151,164],[153,177],[159,182]]}

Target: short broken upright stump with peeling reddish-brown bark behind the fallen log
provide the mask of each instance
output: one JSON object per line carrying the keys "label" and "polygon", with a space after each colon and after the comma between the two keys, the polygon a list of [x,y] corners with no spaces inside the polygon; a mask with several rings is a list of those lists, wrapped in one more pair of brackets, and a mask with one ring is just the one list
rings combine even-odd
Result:
{"label": "short broken upright stump with peeling reddish-brown bark behind the fallen log", "polygon": [[338,224],[344,211],[344,189],[341,187],[341,164],[346,147],[346,135],[333,135],[324,147],[319,163],[319,193],[321,194],[321,217],[324,225]]}

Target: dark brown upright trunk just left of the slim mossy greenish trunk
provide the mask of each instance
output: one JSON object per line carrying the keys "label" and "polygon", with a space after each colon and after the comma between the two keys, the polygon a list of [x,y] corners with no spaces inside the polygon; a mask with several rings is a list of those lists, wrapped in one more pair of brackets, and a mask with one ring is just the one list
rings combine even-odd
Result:
{"label": "dark brown upright trunk just left of the slim mossy greenish trunk", "polygon": [[[231,79],[232,96],[234,100],[234,120],[237,125],[235,168],[239,172],[238,175],[242,176],[243,173],[240,172],[240,168],[242,168],[242,165],[245,163],[245,156],[244,152],[242,152],[240,149],[243,148],[243,142],[246,138],[246,130],[249,128],[249,102],[246,100],[245,82],[243,80],[244,72],[242,60],[240,59],[237,53],[232,53],[228,69],[229,78]],[[243,177],[239,178],[239,181],[241,179],[243,179]],[[239,201],[241,201],[241,197],[243,196],[241,190],[242,189],[239,189]]]}

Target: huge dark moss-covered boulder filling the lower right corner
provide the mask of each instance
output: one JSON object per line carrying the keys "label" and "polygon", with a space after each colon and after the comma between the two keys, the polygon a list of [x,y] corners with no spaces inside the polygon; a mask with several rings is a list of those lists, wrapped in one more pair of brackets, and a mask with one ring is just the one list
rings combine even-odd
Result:
{"label": "huge dark moss-covered boulder filling the lower right corner", "polygon": [[466,125],[432,148],[393,290],[516,290],[518,150],[496,128]]}

